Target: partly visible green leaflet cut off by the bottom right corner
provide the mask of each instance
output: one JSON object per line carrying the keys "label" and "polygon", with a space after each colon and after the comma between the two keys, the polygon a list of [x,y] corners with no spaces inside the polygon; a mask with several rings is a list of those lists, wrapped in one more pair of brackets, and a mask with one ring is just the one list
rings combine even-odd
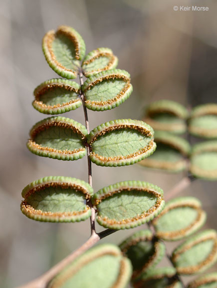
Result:
{"label": "partly visible green leaflet cut off by the bottom right corner", "polygon": [[217,272],[205,274],[189,283],[188,288],[216,288]]}

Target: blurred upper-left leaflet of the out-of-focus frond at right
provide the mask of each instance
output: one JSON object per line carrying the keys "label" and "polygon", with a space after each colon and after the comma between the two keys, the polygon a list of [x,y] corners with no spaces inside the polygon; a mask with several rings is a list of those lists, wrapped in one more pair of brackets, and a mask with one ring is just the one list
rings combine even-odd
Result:
{"label": "blurred upper-left leaflet of the out-of-focus frond at right", "polygon": [[150,124],[154,130],[182,134],[187,129],[185,122],[187,117],[188,111],[180,103],[158,100],[147,107],[144,121]]}

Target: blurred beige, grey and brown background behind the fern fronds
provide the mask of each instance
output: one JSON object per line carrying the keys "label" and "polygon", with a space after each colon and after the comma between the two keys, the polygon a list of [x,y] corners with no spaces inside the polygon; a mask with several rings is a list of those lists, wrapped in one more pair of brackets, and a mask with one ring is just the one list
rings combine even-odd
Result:
{"label": "blurred beige, grey and brown background behind the fern fronds", "polygon": [[[174,11],[173,6],[181,4],[206,4],[209,11]],[[141,119],[145,105],[157,99],[188,106],[217,102],[216,15],[216,0],[0,0],[0,287],[39,276],[90,233],[89,220],[41,223],[20,212],[21,190],[33,180],[65,175],[87,181],[86,157],[58,161],[31,154],[25,145],[31,126],[46,117],[31,106],[32,91],[57,76],[41,50],[45,32],[70,25],[84,38],[87,52],[109,47],[119,58],[118,67],[131,74],[134,91],[126,102],[110,111],[88,111],[92,129],[115,118]],[[82,108],[64,116],[84,124]],[[135,179],[157,184],[166,194],[183,177],[139,165],[92,168],[95,190]],[[182,192],[201,199],[210,228],[217,228],[216,193],[216,182],[202,180]],[[118,244],[136,229],[102,241]],[[168,250],[173,247],[169,244]],[[189,279],[184,277],[185,282]]]}

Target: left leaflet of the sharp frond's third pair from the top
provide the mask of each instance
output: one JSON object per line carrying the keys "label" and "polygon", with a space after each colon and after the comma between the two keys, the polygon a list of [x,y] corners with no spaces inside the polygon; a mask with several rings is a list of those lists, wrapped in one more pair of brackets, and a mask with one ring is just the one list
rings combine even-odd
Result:
{"label": "left leaflet of the sharp frond's third pair from the top", "polygon": [[77,160],[86,154],[84,141],[87,129],[65,117],[49,117],[37,122],[30,130],[28,149],[39,156]]}

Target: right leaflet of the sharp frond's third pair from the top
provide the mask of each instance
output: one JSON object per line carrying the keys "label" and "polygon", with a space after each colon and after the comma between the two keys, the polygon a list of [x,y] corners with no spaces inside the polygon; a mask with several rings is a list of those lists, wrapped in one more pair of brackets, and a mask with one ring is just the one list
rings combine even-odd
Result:
{"label": "right leaflet of the sharp frond's third pair from the top", "polygon": [[90,159],[101,166],[134,164],[151,155],[156,144],[152,127],[143,121],[120,119],[94,128],[88,135]]}

